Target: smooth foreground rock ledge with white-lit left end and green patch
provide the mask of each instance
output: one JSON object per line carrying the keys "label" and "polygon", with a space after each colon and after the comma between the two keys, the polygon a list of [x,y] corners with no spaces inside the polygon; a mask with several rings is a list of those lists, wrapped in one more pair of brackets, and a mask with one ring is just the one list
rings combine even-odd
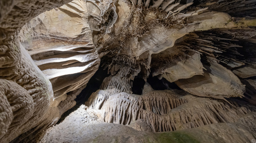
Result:
{"label": "smooth foreground rock ledge with white-lit left end and green patch", "polygon": [[[105,92],[110,93],[116,89],[107,89]],[[100,90],[99,92],[104,92]],[[167,91],[169,92],[169,91]],[[185,95],[187,96],[187,95]],[[93,99],[93,98],[92,98]],[[206,98],[205,98],[206,99]],[[184,103],[187,104],[187,103]],[[225,104],[225,103],[224,103]],[[222,105],[224,105],[222,103]],[[218,106],[218,105],[217,105]],[[237,108],[237,104],[235,105]],[[242,105],[243,106],[243,105]],[[240,107],[240,111],[232,112],[241,114],[248,107]],[[125,106],[124,106],[125,107]],[[189,106],[184,106],[186,110]],[[223,106],[224,107],[224,106]],[[203,107],[206,109],[206,106]],[[217,107],[218,108],[218,107]],[[235,109],[232,108],[231,110]],[[252,107],[255,110],[255,106]],[[229,112],[230,108],[223,108]],[[238,109],[238,108],[237,108]],[[241,110],[242,109],[242,110]],[[201,111],[203,113],[203,111]],[[246,111],[245,111],[246,112]],[[242,114],[244,114],[243,112]],[[218,112],[216,112],[218,113]],[[220,112],[220,116],[225,116]],[[80,106],[62,123],[48,129],[40,142],[225,142],[239,143],[250,142],[255,140],[255,119],[256,112],[250,112],[240,115],[231,122],[212,123],[198,128],[181,129],[172,132],[158,132],[144,128],[144,130],[133,129],[136,122],[139,127],[143,125],[143,120],[138,119],[131,122],[130,125],[103,123],[102,113],[100,110],[89,109],[87,106]],[[211,114],[207,114],[211,116]],[[207,116],[205,115],[205,117]],[[178,117],[177,115],[176,117]],[[199,120],[208,120],[209,118],[200,118]],[[146,127],[144,125],[144,127]],[[63,130],[64,129],[64,130]],[[66,130],[65,130],[66,129]],[[66,133],[66,134],[63,134]],[[243,137],[242,137],[243,136]]]}

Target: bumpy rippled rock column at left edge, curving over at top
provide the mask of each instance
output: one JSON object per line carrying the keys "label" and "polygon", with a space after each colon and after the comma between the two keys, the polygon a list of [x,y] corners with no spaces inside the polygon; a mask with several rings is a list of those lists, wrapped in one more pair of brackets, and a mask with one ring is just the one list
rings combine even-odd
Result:
{"label": "bumpy rippled rock column at left edge, curving over at top", "polygon": [[1,1],[0,85],[3,91],[0,101],[4,105],[1,110],[4,119],[0,140],[3,143],[21,134],[15,139],[17,142],[31,134],[37,135],[60,117],[59,109],[53,104],[52,85],[19,43],[18,31],[38,14],[67,2],[70,0]]}

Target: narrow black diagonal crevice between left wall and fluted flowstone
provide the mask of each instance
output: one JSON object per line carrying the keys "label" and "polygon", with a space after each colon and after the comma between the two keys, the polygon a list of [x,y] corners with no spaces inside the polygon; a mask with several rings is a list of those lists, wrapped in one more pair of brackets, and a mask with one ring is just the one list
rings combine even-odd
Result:
{"label": "narrow black diagonal crevice between left wall and fluted flowstone", "polygon": [[87,83],[87,86],[81,91],[79,95],[76,96],[76,99],[75,99],[76,105],[71,109],[69,109],[68,111],[66,111],[64,114],[62,114],[62,116],[60,117],[60,119],[56,124],[61,123],[67,116],[69,116],[70,113],[77,110],[82,104],[84,104],[88,100],[90,95],[99,89],[104,78],[109,75],[110,74],[108,74],[107,69],[104,70],[104,67],[101,67],[100,65],[99,69],[96,71],[96,73],[92,76],[92,78]]}

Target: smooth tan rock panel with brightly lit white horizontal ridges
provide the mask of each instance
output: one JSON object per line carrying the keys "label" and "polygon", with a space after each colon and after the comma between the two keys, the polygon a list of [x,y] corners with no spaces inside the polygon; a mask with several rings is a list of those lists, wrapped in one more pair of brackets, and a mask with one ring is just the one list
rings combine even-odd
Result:
{"label": "smooth tan rock panel with brightly lit white horizontal ridges", "polygon": [[54,99],[86,85],[99,66],[87,3],[74,0],[46,11],[20,33],[35,64],[53,85]]}

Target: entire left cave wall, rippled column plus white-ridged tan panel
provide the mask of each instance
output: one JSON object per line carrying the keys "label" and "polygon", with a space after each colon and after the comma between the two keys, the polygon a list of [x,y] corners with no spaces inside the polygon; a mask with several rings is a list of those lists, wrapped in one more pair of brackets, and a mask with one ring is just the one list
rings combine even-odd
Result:
{"label": "entire left cave wall, rippled column plus white-ridged tan panel", "polygon": [[[66,93],[81,91],[98,68],[98,54],[87,17],[80,14],[86,12],[79,3],[83,1],[68,4],[72,8],[63,6],[62,13],[60,9],[52,9],[68,2],[1,1],[0,140],[3,143],[19,135],[13,142],[35,141],[36,137],[28,136],[36,136],[54,125],[62,113],[73,107],[74,96],[79,92],[68,97]],[[72,13],[72,9],[76,11]],[[42,13],[46,10],[50,11]],[[52,12],[59,19],[51,17]],[[71,18],[65,12],[75,14],[73,21],[76,19],[79,26],[65,25],[63,22],[68,23]]]}

